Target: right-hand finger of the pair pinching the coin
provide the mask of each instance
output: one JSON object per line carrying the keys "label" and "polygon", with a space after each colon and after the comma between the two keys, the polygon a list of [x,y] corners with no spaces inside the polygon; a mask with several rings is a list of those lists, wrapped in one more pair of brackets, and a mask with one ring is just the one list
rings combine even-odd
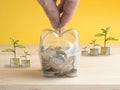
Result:
{"label": "right-hand finger of the pair pinching the coin", "polygon": [[61,17],[61,28],[65,27],[66,24],[71,20],[76,7],[78,6],[79,0],[65,0],[63,6],[63,15]]}

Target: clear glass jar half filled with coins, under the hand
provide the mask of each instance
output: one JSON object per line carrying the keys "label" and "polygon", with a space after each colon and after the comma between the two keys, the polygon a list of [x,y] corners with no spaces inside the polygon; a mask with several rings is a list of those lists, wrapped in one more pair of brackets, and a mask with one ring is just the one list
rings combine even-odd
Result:
{"label": "clear glass jar half filled with coins, under the hand", "polygon": [[43,76],[74,77],[80,60],[79,37],[75,29],[46,29],[40,35]]}

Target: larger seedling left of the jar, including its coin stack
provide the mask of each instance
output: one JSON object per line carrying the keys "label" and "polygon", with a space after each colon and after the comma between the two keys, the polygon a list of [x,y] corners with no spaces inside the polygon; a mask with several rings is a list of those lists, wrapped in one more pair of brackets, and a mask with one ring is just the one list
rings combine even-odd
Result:
{"label": "larger seedling left of the jar, including its coin stack", "polygon": [[10,38],[10,42],[13,46],[13,48],[7,48],[5,50],[2,50],[2,52],[11,52],[13,53],[14,57],[10,58],[10,66],[11,67],[20,67],[20,61],[19,58],[16,57],[16,49],[17,48],[25,48],[25,46],[19,44],[19,40],[14,40],[13,38]]}

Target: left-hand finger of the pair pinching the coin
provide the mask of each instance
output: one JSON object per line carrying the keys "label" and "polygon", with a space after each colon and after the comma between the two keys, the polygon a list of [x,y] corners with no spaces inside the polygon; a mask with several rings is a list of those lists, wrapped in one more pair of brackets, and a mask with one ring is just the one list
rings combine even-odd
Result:
{"label": "left-hand finger of the pair pinching the coin", "polygon": [[58,27],[58,22],[60,19],[59,11],[54,0],[38,0],[42,5],[46,15],[48,16],[53,28]]}

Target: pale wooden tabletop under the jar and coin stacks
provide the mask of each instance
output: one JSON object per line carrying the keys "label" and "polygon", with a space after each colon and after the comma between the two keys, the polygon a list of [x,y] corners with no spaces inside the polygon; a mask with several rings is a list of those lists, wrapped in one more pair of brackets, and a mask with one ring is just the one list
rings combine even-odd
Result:
{"label": "pale wooden tabletop under the jar and coin stacks", "polygon": [[[120,90],[120,45],[110,46],[110,56],[81,56],[75,78],[42,77],[39,45],[27,45],[30,68],[10,68],[12,55],[0,52],[0,90]],[[6,47],[0,45],[0,51]]]}

